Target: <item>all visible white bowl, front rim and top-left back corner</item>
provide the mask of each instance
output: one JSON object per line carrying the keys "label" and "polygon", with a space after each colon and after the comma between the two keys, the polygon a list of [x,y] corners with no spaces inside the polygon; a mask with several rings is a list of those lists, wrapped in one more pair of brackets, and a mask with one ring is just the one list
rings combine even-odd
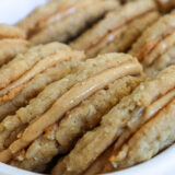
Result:
{"label": "all visible white bowl, front rim and top-left back corner", "polygon": [[[47,0],[0,0],[0,23],[15,24]],[[0,163],[0,175],[40,175]],[[109,175],[175,175],[175,145],[140,165]]]}

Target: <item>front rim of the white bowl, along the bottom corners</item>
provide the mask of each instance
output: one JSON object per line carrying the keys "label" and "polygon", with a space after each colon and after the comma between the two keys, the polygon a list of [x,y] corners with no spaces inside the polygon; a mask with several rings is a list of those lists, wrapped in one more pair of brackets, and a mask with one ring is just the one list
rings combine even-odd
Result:
{"label": "front rim of the white bowl, along the bottom corners", "polygon": [[[175,144],[152,160],[107,175],[175,175]],[[0,163],[0,175],[43,175]]]}

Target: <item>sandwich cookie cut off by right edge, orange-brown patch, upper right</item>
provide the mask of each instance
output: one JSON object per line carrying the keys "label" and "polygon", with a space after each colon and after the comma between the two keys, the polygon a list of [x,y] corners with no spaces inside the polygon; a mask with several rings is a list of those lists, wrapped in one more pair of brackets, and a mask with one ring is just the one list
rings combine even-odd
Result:
{"label": "sandwich cookie cut off by right edge, orange-brown patch, upper right", "polygon": [[148,74],[174,63],[175,11],[162,16],[143,32],[129,54],[136,56]]}

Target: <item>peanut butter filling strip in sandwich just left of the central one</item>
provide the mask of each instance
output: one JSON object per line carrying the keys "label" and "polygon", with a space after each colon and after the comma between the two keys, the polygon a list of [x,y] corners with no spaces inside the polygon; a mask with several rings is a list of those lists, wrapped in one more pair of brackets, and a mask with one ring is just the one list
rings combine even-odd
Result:
{"label": "peanut butter filling strip in sandwich just left of the central one", "polygon": [[[43,72],[44,70],[54,67],[57,63],[61,63],[62,61],[69,61],[72,59],[80,58],[83,59],[84,55],[80,51],[68,51],[60,50],[51,56],[43,58],[38,61],[32,69],[25,72],[20,79],[8,85],[5,89],[0,91],[1,102],[10,101],[14,95],[19,94],[24,84],[34,78],[36,74]],[[8,94],[9,93],[9,94]]]}

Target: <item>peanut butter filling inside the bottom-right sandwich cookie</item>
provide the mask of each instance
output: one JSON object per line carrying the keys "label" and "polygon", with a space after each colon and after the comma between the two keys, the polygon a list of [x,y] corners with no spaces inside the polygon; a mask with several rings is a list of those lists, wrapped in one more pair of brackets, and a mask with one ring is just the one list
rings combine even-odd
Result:
{"label": "peanut butter filling inside the bottom-right sandwich cookie", "polygon": [[[131,118],[131,120],[127,124],[121,136],[113,145],[113,151],[110,151],[110,158],[108,155],[108,160],[106,161],[106,165],[104,165],[103,171],[101,173],[107,173],[117,168],[117,158],[118,150],[128,141],[131,136],[139,130],[147,121],[156,116],[167,104],[172,102],[175,97],[175,90],[167,92],[167,94],[158,98],[153,102],[149,107],[141,113],[141,115],[136,115]],[[108,164],[107,164],[108,163]],[[100,172],[98,172],[100,173]]]}

